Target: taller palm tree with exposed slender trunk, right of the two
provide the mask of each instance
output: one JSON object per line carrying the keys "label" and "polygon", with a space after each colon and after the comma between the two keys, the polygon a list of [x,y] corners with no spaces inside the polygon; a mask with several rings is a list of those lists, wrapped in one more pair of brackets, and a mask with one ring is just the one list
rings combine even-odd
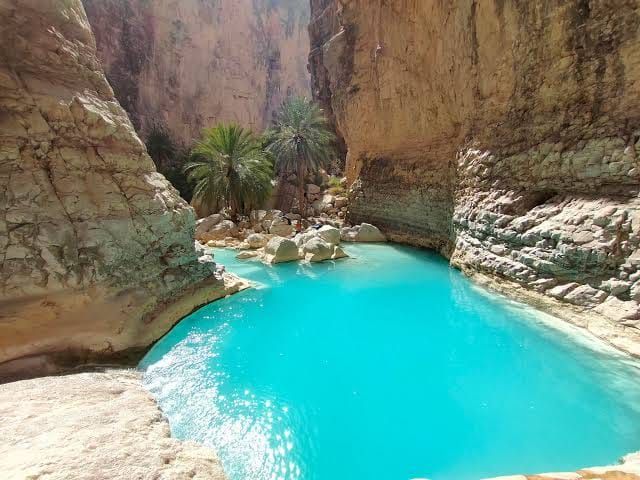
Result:
{"label": "taller palm tree with exposed slender trunk, right of the two", "polygon": [[316,104],[306,98],[291,98],[282,104],[268,138],[267,150],[273,154],[278,172],[296,174],[298,208],[304,216],[305,178],[328,165],[335,152],[335,136],[329,122]]}

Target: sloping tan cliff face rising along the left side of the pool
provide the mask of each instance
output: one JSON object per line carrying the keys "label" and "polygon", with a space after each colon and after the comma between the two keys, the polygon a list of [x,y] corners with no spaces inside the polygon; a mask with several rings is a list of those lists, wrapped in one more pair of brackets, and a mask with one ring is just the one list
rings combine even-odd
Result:
{"label": "sloping tan cliff face rising along the left side of the pool", "polygon": [[79,0],[0,0],[0,378],[157,339],[224,282],[96,58]]}

